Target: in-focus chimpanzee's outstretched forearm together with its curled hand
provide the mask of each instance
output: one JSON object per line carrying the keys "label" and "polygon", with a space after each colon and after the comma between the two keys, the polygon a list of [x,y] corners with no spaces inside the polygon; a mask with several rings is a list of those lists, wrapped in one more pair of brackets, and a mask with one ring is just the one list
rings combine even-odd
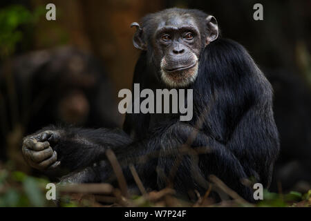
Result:
{"label": "in-focus chimpanzee's outstretched forearm together with its curled hand", "polygon": [[131,139],[119,129],[48,126],[23,139],[23,155],[34,168],[83,169],[104,158],[106,148],[126,146]]}

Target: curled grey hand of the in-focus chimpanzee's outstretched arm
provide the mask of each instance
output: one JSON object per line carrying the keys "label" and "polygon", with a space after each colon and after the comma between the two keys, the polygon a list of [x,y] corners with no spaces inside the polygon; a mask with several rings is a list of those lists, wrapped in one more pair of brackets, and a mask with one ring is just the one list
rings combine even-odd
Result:
{"label": "curled grey hand of the in-focus chimpanzee's outstretched arm", "polygon": [[60,162],[51,144],[57,144],[60,139],[58,131],[43,131],[23,139],[23,155],[30,166],[39,170],[55,169]]}

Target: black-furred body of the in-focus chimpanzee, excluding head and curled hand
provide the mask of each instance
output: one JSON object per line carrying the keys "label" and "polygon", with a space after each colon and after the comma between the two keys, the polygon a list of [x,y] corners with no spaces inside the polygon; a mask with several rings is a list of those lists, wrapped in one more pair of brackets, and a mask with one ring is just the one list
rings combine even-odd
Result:
{"label": "black-furred body of the in-focus chimpanzee, excluding head and curled hand", "polygon": [[[153,75],[149,56],[142,52],[133,83],[140,83],[141,90],[165,88]],[[188,88],[194,90],[194,117],[189,122],[180,122],[178,115],[127,114],[126,133],[48,128],[60,130],[61,141],[54,149],[62,166],[70,171],[89,166],[85,175],[73,176],[74,182],[114,183],[105,155],[111,148],[129,186],[135,186],[128,169],[133,164],[148,189],[173,184],[182,195],[194,189],[204,195],[214,174],[252,201],[252,188],[241,180],[252,177],[269,186],[279,153],[270,83],[243,46],[218,39],[202,50],[198,77]],[[178,169],[170,175],[175,164]]]}

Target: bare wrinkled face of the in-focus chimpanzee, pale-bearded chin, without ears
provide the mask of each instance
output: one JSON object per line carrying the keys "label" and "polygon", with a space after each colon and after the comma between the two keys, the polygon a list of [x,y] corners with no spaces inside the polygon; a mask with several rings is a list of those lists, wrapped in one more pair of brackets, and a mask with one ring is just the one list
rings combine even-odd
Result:
{"label": "bare wrinkled face of the in-focus chimpanzee, pale-bearded chin, without ears", "polygon": [[173,17],[159,24],[154,35],[154,55],[160,62],[161,79],[173,87],[187,86],[196,79],[202,48],[194,19]]}

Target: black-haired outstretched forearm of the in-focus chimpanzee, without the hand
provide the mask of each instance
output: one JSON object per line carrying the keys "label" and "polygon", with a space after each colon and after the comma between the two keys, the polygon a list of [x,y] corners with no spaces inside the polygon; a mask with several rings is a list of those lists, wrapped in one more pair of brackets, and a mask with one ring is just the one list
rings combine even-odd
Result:
{"label": "black-haired outstretched forearm of the in-focus chimpanzee, without the hand", "polygon": [[120,129],[60,129],[60,139],[53,148],[62,167],[73,171],[105,159],[107,148],[122,148],[131,138]]}

